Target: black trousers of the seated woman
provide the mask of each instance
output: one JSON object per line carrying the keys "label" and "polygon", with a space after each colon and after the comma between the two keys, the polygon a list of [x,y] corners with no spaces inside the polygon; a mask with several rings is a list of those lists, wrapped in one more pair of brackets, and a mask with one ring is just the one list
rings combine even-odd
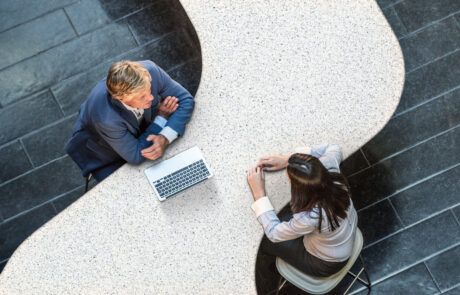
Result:
{"label": "black trousers of the seated woman", "polygon": [[[284,207],[278,217],[281,221],[292,218],[290,206]],[[343,262],[329,262],[319,259],[308,253],[303,244],[303,237],[295,240],[272,243],[266,236],[263,237],[259,252],[265,255],[280,257],[298,270],[312,276],[328,277],[339,272],[346,264]]]}

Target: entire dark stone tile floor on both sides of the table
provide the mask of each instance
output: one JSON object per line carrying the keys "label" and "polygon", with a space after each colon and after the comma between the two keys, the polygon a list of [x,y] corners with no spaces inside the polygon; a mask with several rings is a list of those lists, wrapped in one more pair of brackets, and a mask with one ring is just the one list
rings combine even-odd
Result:
{"label": "entire dark stone tile floor on both sides of the table", "polygon": [[[377,2],[400,41],[406,82],[393,118],[342,163],[371,294],[460,294],[460,2]],[[0,271],[83,194],[64,145],[110,64],[152,59],[196,93],[201,53],[184,15],[177,0],[0,2]],[[258,257],[261,294],[274,294],[273,263]],[[288,284],[280,294],[305,293]]]}

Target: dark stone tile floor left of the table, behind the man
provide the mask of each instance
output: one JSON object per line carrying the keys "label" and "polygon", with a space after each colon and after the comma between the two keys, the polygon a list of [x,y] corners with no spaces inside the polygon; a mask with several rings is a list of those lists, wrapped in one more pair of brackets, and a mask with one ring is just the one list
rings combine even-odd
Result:
{"label": "dark stone tile floor left of the table, behind the man", "polygon": [[0,55],[1,271],[22,241],[83,195],[64,146],[110,65],[151,59],[195,94],[201,51],[178,0],[5,0]]}

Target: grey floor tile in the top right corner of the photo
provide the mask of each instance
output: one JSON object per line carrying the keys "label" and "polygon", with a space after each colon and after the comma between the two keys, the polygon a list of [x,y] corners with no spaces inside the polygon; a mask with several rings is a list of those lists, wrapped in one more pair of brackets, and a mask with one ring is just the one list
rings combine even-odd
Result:
{"label": "grey floor tile in the top right corner of the photo", "polygon": [[394,6],[409,32],[460,10],[458,0],[404,0]]}

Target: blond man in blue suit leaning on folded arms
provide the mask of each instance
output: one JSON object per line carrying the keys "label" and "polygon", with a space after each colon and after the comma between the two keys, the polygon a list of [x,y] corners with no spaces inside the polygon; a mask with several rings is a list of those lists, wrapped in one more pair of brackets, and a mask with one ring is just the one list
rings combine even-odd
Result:
{"label": "blond man in blue suit leaning on folded arms", "polygon": [[102,181],[126,162],[161,157],[193,107],[192,95],[152,61],[117,62],[80,107],[66,151],[84,177]]}

